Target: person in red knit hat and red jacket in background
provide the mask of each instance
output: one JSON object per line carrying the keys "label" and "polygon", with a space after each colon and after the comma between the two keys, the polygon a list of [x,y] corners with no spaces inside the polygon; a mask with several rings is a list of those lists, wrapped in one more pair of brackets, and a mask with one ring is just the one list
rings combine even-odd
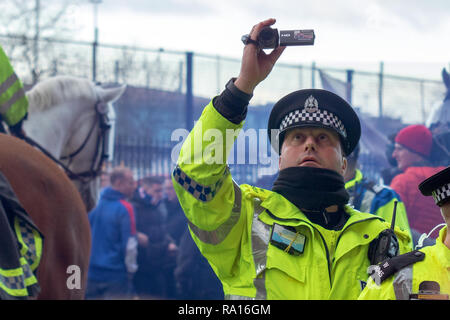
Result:
{"label": "person in red knit hat and red jacket in background", "polygon": [[433,199],[423,196],[417,188],[412,187],[444,169],[431,165],[432,145],[432,134],[424,125],[407,126],[395,137],[392,156],[402,173],[392,179],[390,186],[406,206],[413,237],[418,233],[428,233],[441,221],[439,208],[433,206]]}

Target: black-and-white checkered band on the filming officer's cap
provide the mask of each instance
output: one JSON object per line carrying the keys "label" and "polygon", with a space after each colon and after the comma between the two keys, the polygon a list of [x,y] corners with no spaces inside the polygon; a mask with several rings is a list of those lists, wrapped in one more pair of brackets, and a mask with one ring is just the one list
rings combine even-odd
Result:
{"label": "black-and-white checkered band on the filming officer's cap", "polygon": [[334,129],[341,136],[347,138],[347,131],[345,130],[342,121],[332,112],[329,112],[328,110],[320,110],[318,108],[315,108],[313,112],[307,111],[306,108],[303,110],[297,109],[295,111],[291,111],[281,121],[280,131],[283,131],[291,126],[295,126],[296,124],[311,122],[319,123],[325,127]]}

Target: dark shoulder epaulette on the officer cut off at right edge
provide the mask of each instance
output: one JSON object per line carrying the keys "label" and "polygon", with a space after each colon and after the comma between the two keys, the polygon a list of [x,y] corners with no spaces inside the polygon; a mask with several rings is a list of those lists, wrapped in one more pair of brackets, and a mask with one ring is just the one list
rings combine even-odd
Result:
{"label": "dark shoulder epaulette on the officer cut off at right edge", "polygon": [[414,250],[399,256],[388,258],[377,265],[372,265],[367,269],[369,276],[380,285],[384,280],[397,273],[401,269],[425,259],[425,253]]}

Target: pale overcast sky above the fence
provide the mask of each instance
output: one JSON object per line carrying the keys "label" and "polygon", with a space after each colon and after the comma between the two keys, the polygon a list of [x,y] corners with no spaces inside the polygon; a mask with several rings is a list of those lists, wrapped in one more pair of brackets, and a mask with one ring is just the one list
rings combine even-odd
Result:
{"label": "pale overcast sky above the fence", "polygon": [[[93,40],[93,4],[78,5],[75,39]],[[31,0],[30,0],[31,2]],[[48,6],[47,6],[48,7]],[[240,38],[257,22],[314,29],[314,46],[289,47],[282,62],[440,79],[450,66],[450,0],[102,0],[101,43],[240,58]]]}

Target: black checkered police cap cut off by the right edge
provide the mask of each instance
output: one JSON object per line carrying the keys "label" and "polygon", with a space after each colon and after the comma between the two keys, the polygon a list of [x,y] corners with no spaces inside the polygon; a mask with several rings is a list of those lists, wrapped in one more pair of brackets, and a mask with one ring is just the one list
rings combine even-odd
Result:
{"label": "black checkered police cap cut off by the right edge", "polygon": [[450,201],[450,167],[422,181],[419,190],[424,196],[433,196],[440,207]]}

